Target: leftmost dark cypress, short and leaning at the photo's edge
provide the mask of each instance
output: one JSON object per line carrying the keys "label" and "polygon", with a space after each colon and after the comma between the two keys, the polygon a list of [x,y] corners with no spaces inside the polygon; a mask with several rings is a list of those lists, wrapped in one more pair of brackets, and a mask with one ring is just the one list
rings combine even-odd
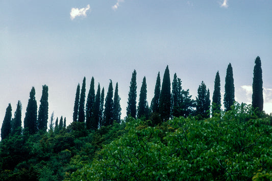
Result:
{"label": "leftmost dark cypress, short and leaning at the photo's edge", "polygon": [[12,117],[12,109],[11,109],[11,105],[9,104],[9,106],[6,109],[6,114],[2,123],[2,127],[1,127],[1,139],[4,140],[5,138],[7,138],[9,136],[9,134],[11,133],[11,117]]}

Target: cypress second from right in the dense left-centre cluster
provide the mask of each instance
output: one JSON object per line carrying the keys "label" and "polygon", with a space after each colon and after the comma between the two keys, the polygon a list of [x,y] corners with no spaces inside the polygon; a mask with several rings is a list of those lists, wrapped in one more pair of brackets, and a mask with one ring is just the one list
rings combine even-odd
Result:
{"label": "cypress second from right in the dense left-centre cluster", "polygon": [[105,99],[105,110],[104,110],[104,123],[105,126],[112,125],[113,123],[113,87],[112,81],[110,80],[110,85],[108,88],[108,93]]}

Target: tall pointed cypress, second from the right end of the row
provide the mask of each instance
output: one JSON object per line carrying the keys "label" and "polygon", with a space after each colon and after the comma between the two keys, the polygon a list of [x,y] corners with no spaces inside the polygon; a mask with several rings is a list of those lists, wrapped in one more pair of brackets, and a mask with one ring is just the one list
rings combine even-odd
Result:
{"label": "tall pointed cypress, second from the right end of the row", "polygon": [[228,65],[225,79],[224,107],[225,111],[231,110],[234,99],[234,79],[231,63]]}

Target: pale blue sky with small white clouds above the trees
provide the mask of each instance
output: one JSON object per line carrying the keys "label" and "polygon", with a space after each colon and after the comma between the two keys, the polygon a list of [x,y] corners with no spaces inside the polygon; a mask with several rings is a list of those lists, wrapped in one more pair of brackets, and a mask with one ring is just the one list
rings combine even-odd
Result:
{"label": "pale blue sky with small white clouds above the trees", "polygon": [[228,64],[235,100],[251,104],[254,61],[263,71],[264,111],[272,112],[271,0],[105,0],[0,2],[0,125],[11,103],[23,118],[32,87],[39,107],[48,86],[49,117],[72,121],[77,85],[86,76],[108,91],[118,82],[121,117],[126,116],[132,72],[137,101],[146,76],[149,105],[156,77],[166,66],[195,99],[202,81],[211,92],[219,71],[221,94]]}

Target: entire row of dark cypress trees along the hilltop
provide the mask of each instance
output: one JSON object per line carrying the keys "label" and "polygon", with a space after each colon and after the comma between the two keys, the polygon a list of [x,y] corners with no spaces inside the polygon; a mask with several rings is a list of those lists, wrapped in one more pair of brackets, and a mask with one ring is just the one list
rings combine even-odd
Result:
{"label": "entire row of dark cypress trees along the hilltop", "polygon": [[[253,77],[253,94],[252,106],[258,111],[263,111],[263,88],[262,88],[262,69],[261,60],[258,56],[255,59]],[[171,117],[189,115],[201,115],[206,118],[210,116],[210,91],[207,89],[205,83],[202,81],[197,89],[197,97],[195,100],[189,95],[189,89],[182,89],[182,81],[174,74],[172,82],[172,89],[170,84],[170,75],[168,66],[163,75],[161,84],[160,72],[158,72],[154,97],[151,101],[151,107],[147,102],[146,78],[144,76],[142,86],[139,94],[138,106],[136,106],[137,98],[137,84],[136,84],[136,70],[132,73],[130,83],[130,91],[128,97],[127,116],[134,118],[152,118],[152,116],[159,116],[161,121],[167,121]],[[224,107],[225,111],[229,111],[233,105],[234,99],[234,79],[231,63],[228,65],[226,79],[225,79],[225,94]],[[80,92],[80,85],[78,84],[75,105],[73,111],[73,121],[85,122],[88,130],[96,130],[98,127],[113,124],[113,121],[121,121],[121,107],[120,97],[118,95],[118,83],[115,86],[113,96],[113,86],[110,80],[108,93],[105,98],[104,105],[104,88],[101,91],[100,84],[98,84],[97,92],[94,91],[94,79],[92,77],[90,89],[86,101],[85,109],[85,92],[86,92],[86,78],[84,77],[82,89]],[[214,81],[214,92],[212,96],[212,114],[221,111],[221,93],[220,93],[220,76],[217,71]],[[53,119],[53,118],[51,118]],[[48,120],[48,86],[42,86],[42,96],[40,99],[40,107],[37,113],[37,101],[35,98],[35,88],[32,87],[30,98],[28,101],[26,116],[24,118],[24,130],[29,134],[35,134],[38,131],[45,132],[47,130]],[[57,119],[58,120],[58,119]],[[51,126],[52,128],[52,120]],[[60,123],[56,121],[55,130],[60,130],[66,127],[66,118],[60,119]],[[21,102],[18,101],[17,108],[12,118],[11,104],[7,107],[4,121],[1,128],[1,138],[5,139],[9,134],[21,133]]]}

